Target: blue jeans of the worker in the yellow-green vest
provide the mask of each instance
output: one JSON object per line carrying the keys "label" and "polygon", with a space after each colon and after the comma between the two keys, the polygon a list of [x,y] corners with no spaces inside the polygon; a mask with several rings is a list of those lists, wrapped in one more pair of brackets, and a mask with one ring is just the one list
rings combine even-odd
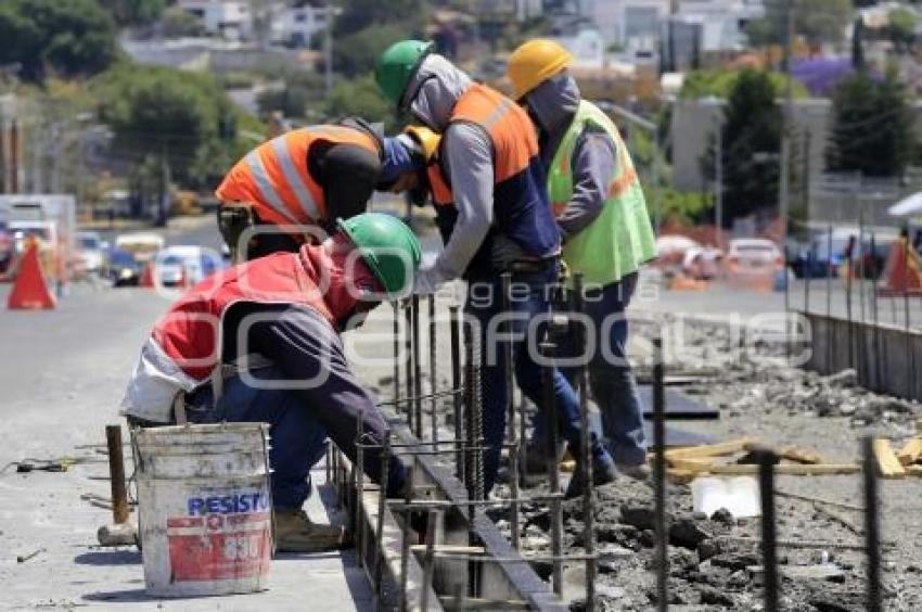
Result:
{"label": "blue jeans of the worker in the yellow-green vest", "polygon": [[[602,415],[605,446],[617,463],[627,466],[639,466],[646,460],[643,410],[627,360],[625,309],[636,289],[637,273],[632,273],[603,288],[587,289],[585,301],[586,315],[596,334],[596,352],[589,360],[589,388]],[[574,342],[575,334],[569,334],[567,340]],[[575,344],[562,348],[562,354],[577,353]],[[577,368],[563,369],[574,387],[577,372]]]}

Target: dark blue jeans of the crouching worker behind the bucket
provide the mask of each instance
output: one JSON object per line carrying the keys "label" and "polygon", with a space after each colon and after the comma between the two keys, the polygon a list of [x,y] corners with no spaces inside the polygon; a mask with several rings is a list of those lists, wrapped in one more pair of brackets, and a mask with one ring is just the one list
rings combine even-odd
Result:
{"label": "dark blue jeans of the crouching worker behind the bucket", "polygon": [[[249,372],[257,379],[283,380],[276,368]],[[188,400],[192,423],[268,423],[272,436],[272,502],[276,508],[300,509],[310,494],[310,469],[326,450],[326,431],[304,409],[303,400],[285,390],[253,388],[240,377],[225,381],[223,394],[213,406],[212,385],[196,390]]]}

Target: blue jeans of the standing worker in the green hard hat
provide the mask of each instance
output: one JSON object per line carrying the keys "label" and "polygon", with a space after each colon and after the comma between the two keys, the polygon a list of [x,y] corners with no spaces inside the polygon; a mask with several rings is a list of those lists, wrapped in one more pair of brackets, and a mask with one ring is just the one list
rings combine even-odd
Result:
{"label": "blue jeans of the standing worker in the green hard hat", "polygon": [[[535,362],[534,355],[528,349],[527,333],[530,324],[536,324],[533,337],[540,341],[545,335],[547,324],[536,323],[538,315],[550,311],[549,289],[558,280],[555,267],[537,273],[516,273],[512,277],[514,298],[510,308],[516,316],[512,320],[512,358],[514,361],[515,382],[536,406],[545,404],[541,384],[541,366]],[[479,323],[481,333],[481,396],[483,398],[484,442],[488,450],[484,454],[484,489],[489,492],[496,482],[499,469],[500,450],[504,439],[507,400],[505,400],[505,358],[503,342],[498,342],[489,328],[489,321],[502,311],[502,286],[499,278],[488,281],[473,281],[468,288],[465,314]],[[502,324],[498,331],[508,328]],[[491,345],[491,346],[490,346]],[[563,438],[578,456],[579,448],[579,399],[573,387],[560,372],[554,369],[554,397],[558,410],[558,426]],[[543,411],[542,411],[543,412]],[[543,412],[547,413],[547,412]],[[603,455],[604,450],[593,436],[593,455]]]}

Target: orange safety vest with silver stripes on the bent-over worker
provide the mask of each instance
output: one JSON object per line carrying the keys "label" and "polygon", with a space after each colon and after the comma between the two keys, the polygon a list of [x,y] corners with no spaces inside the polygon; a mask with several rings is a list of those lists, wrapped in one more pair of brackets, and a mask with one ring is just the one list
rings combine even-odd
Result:
{"label": "orange safety vest with silver stripes on the bent-over worker", "polygon": [[264,221],[280,226],[315,225],[326,218],[321,186],[307,167],[315,142],[357,144],[380,154],[375,138],[345,126],[310,126],[264,142],[239,161],[215,195],[221,202],[253,204]]}

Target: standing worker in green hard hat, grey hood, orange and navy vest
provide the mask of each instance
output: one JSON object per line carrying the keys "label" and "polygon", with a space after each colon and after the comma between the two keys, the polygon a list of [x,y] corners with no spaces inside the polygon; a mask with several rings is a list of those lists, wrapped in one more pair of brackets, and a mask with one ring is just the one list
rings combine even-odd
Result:
{"label": "standing worker in green hard hat, grey hood, orange and navy vest", "polygon": [[[516,288],[511,301],[512,328],[517,334],[513,347],[516,381],[523,393],[541,405],[541,369],[529,352],[526,331],[535,332],[529,324],[541,326],[549,311],[549,294],[559,272],[560,231],[550,212],[532,122],[514,102],[473,82],[434,53],[428,42],[404,40],[386,49],[379,58],[375,80],[398,111],[441,135],[438,171],[430,178],[436,202],[450,202],[454,219],[445,248],[432,266],[417,275],[414,292],[432,293],[441,283],[464,277],[465,314],[479,331],[488,330],[502,305],[500,273],[511,272]],[[483,435],[488,446],[484,489],[489,492],[505,424],[503,352],[496,344],[488,345],[495,337],[488,339],[486,333],[475,337],[484,357]],[[578,400],[556,370],[554,392],[564,437],[578,457]],[[594,438],[592,457],[596,482],[614,479],[611,458]],[[572,484],[567,493],[577,495],[579,479]]]}

